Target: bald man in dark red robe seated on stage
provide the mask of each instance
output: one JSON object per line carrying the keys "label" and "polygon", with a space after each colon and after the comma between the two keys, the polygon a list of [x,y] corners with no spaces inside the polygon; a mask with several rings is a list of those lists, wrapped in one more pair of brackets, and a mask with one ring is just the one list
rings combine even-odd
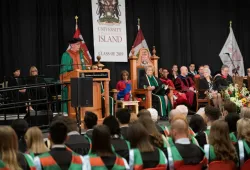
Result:
{"label": "bald man in dark red robe seated on stage", "polygon": [[185,66],[181,67],[181,74],[175,80],[175,88],[186,94],[187,105],[194,106],[195,99],[195,84],[191,77],[188,76],[188,69]]}

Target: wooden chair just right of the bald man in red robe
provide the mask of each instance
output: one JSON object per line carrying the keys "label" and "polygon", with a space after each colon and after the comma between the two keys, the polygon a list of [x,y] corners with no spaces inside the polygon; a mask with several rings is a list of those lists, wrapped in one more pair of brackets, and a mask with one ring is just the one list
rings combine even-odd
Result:
{"label": "wooden chair just right of the bald man in red robe", "polygon": [[209,104],[210,105],[210,99],[206,95],[205,98],[200,98],[199,94],[204,94],[206,92],[205,89],[200,89],[200,78],[194,77],[194,83],[195,83],[195,89],[196,89],[196,111],[199,110],[200,104]]}

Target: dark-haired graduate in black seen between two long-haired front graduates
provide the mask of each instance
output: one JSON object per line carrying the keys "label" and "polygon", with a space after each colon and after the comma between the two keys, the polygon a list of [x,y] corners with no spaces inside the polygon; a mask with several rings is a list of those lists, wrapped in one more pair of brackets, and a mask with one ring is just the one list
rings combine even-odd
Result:
{"label": "dark-haired graduate in black seen between two long-haired front graduates", "polygon": [[103,124],[109,128],[111,134],[111,144],[115,152],[129,161],[130,143],[121,138],[121,129],[114,116],[108,116],[104,119]]}

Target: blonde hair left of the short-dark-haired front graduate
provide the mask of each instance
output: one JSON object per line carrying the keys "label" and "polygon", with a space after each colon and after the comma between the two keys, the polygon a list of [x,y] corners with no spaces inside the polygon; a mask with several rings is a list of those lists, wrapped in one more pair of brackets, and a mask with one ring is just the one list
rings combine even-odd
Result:
{"label": "blonde hair left of the short-dark-haired front graduate", "polygon": [[29,152],[40,154],[49,151],[43,141],[42,131],[38,127],[29,128],[25,134],[25,140]]}

